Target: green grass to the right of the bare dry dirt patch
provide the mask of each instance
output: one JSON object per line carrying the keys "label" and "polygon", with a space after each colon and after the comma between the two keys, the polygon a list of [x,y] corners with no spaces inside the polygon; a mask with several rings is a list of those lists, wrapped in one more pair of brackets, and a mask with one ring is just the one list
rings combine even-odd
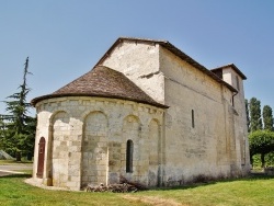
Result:
{"label": "green grass to the right of the bare dry dirt patch", "polygon": [[253,176],[165,191],[148,191],[136,196],[158,196],[191,206],[273,206],[274,178]]}

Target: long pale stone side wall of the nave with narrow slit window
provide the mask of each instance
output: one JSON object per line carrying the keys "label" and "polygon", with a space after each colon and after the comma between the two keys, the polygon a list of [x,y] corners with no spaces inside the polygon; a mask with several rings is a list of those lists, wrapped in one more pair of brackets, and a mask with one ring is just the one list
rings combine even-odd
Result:
{"label": "long pale stone side wall of the nave with narrow slit window", "polygon": [[164,103],[170,106],[164,118],[164,181],[241,175],[243,148],[238,138],[246,130],[243,122],[237,125],[233,93],[169,50],[160,47],[159,54]]}

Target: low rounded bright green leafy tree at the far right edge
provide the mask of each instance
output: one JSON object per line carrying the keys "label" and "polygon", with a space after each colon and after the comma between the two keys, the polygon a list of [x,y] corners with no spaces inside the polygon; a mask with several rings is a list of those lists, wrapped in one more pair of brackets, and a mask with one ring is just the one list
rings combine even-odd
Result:
{"label": "low rounded bright green leafy tree at the far right edge", "polygon": [[261,154],[262,168],[265,167],[265,156],[274,151],[274,131],[255,130],[249,135],[249,147],[251,163],[252,157],[256,153]]}

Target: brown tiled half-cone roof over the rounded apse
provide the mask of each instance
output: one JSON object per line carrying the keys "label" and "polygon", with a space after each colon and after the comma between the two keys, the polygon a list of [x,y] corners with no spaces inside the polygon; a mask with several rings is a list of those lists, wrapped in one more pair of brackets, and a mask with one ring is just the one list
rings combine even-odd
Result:
{"label": "brown tiled half-cone roof over the rounded apse", "polygon": [[123,73],[104,66],[96,66],[88,73],[60,88],[56,92],[32,100],[35,105],[42,100],[60,96],[101,96],[130,100],[159,107],[168,107],[152,100]]}

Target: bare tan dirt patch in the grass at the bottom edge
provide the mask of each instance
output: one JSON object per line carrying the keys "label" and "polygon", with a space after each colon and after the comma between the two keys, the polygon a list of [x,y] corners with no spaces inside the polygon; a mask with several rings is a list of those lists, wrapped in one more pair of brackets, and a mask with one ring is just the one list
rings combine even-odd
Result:
{"label": "bare tan dirt patch in the grass at the bottom edge", "polygon": [[135,202],[141,202],[145,204],[150,204],[150,205],[157,205],[157,206],[187,206],[187,205],[182,205],[181,203],[178,203],[173,199],[168,199],[168,198],[161,198],[159,196],[133,196],[133,195],[123,195],[123,198],[129,199],[129,201],[135,201]]}

